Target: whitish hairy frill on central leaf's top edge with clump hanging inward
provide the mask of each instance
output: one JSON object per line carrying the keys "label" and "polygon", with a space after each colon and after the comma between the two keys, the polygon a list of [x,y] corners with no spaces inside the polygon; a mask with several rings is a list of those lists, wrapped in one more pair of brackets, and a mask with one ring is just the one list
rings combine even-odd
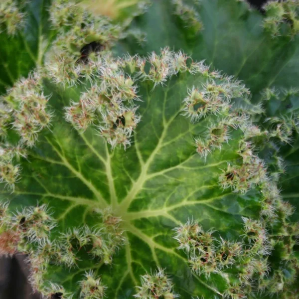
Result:
{"label": "whitish hairy frill on central leaf's top edge with clump hanging inward", "polygon": [[90,60],[86,67],[90,67],[92,86],[81,94],[79,101],[72,101],[65,108],[65,119],[80,131],[94,126],[112,147],[131,144],[130,137],[140,121],[135,105],[140,100],[138,81],[149,80],[154,88],[179,72],[205,73],[207,69],[203,62],[193,62],[183,52],[167,47],[161,49],[160,55],[150,53],[146,58],[127,55],[114,59],[103,54]]}

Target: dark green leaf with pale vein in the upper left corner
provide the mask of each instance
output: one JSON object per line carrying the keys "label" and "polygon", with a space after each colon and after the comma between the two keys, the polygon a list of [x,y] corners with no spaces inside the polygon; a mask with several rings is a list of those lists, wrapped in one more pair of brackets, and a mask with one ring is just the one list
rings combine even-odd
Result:
{"label": "dark green leaf with pale vein in the upper left corner", "polygon": [[49,4],[49,0],[28,1],[22,9],[23,25],[15,35],[8,35],[5,29],[0,32],[1,93],[42,63],[53,34],[48,22]]}

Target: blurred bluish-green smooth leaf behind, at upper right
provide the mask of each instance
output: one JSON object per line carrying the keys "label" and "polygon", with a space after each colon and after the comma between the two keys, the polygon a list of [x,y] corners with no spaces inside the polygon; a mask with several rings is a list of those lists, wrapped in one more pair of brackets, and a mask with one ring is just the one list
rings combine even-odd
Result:
{"label": "blurred bluish-green smooth leaf behind, at upper right", "polygon": [[[172,1],[154,1],[135,26],[147,34],[143,47],[127,45],[132,54],[146,54],[169,46],[183,49],[193,59],[244,80],[254,97],[270,86],[295,87],[298,84],[299,39],[272,38],[263,30],[263,15],[249,10],[246,1],[186,1],[199,13],[203,29],[192,34],[175,15]],[[133,24],[134,25],[134,24]],[[190,25],[192,27],[192,25]]]}

